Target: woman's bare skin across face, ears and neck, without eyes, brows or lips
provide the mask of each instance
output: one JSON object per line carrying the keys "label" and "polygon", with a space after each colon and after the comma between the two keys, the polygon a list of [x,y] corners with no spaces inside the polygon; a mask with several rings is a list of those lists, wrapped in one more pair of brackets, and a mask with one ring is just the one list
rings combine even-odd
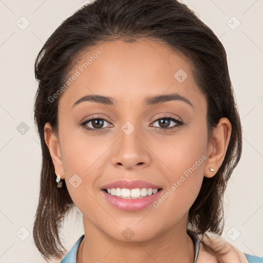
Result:
{"label": "woman's bare skin across face, ears and neck, without eyes, brows or lips", "polygon": [[[102,43],[83,54],[72,72],[97,50],[102,54],[60,97],[59,133],[53,133],[49,123],[45,125],[55,171],[65,179],[73,202],[83,214],[85,238],[77,263],[193,262],[187,215],[203,177],[214,176],[223,162],[231,124],[220,119],[209,140],[206,101],[194,81],[191,64],[167,46],[146,39]],[[182,83],[174,77],[179,69],[188,76]],[[143,104],[145,97],[172,92],[186,97],[193,107],[179,100]],[[112,97],[117,103],[86,101],[72,108],[82,96],[95,94]],[[104,121],[97,132],[78,125],[92,115],[109,122]],[[176,126],[171,120],[168,127],[174,129],[160,130],[163,126],[154,117],[167,115],[180,118],[184,124]],[[121,129],[127,121],[135,127],[130,135]],[[86,126],[94,128],[91,121]],[[205,161],[158,208],[149,205],[137,212],[120,211],[101,192],[106,183],[139,179],[161,185],[165,193],[203,155]],[[69,183],[74,174],[82,179],[77,188]],[[130,240],[122,235],[127,227],[134,232]],[[201,246],[197,262],[205,261],[218,262],[213,252]]]}

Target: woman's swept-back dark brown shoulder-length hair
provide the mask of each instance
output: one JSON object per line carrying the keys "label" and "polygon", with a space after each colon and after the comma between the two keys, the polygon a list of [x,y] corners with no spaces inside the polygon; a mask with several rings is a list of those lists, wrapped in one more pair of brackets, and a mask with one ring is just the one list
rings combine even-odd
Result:
{"label": "woman's swept-back dark brown shoulder-length hair", "polygon": [[[135,42],[141,37],[159,40],[189,58],[200,91],[205,96],[209,137],[222,117],[232,133],[222,165],[212,178],[204,177],[189,211],[187,228],[196,233],[221,234],[223,193],[242,151],[241,123],[228,71],[227,55],[214,32],[186,5],[176,0],[96,0],[68,17],[46,41],[35,61],[39,82],[34,120],[42,147],[39,204],[33,226],[37,249],[47,260],[65,252],[59,229],[74,207],[66,184],[58,189],[52,159],[45,143],[44,125],[58,131],[58,103],[52,96],[68,78],[82,52],[101,42]],[[64,251],[62,251],[63,249]]]}

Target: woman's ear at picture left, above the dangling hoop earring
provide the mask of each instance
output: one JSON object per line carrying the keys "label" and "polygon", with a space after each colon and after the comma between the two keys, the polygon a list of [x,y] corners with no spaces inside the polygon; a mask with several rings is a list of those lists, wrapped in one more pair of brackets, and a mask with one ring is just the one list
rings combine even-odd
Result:
{"label": "woman's ear at picture left, above the dangling hoop earring", "polygon": [[49,153],[51,155],[51,158],[54,164],[55,173],[56,175],[60,175],[61,179],[65,179],[63,162],[61,158],[59,138],[58,138],[58,135],[56,135],[53,132],[52,127],[49,122],[47,122],[44,126],[44,134],[45,134],[45,142],[47,144]]}

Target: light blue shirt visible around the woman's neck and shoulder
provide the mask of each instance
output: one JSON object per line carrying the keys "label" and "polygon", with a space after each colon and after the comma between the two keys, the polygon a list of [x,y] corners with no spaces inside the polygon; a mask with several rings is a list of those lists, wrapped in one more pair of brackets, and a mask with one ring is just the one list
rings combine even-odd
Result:
{"label": "light blue shirt visible around the woman's neck and shoulder", "polygon": [[[195,260],[194,263],[197,261],[197,256],[200,248],[200,240],[196,233],[187,230],[187,234],[192,238],[194,245],[195,245]],[[83,234],[79,240],[74,244],[74,246],[70,249],[70,251],[65,255],[60,263],[76,263],[77,261],[77,252],[80,246],[82,239],[84,238],[85,234]],[[263,263],[263,257],[253,256],[250,254],[244,253],[246,258],[248,259],[249,263]]]}

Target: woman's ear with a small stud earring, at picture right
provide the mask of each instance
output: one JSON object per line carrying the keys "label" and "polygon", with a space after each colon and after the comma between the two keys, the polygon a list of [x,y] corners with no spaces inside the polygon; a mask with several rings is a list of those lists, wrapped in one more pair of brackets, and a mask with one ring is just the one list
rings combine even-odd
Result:
{"label": "woman's ear with a small stud earring, at picture right", "polygon": [[[208,159],[205,162],[204,176],[213,177],[221,166],[226,155],[232,125],[227,118],[221,118],[213,130],[212,138],[208,143]],[[210,167],[214,169],[210,171]]]}

